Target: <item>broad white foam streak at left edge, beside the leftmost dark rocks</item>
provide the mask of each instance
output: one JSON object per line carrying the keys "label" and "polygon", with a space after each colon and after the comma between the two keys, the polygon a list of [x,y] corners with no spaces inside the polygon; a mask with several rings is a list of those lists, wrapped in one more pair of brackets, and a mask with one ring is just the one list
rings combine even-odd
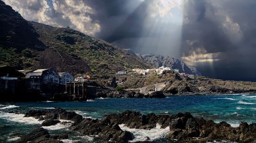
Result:
{"label": "broad white foam streak at left edge, beside the leftmost dark rocks", "polygon": [[42,121],[38,121],[33,117],[24,117],[24,114],[7,113],[0,111],[0,118],[12,122],[25,123],[25,124],[41,124]]}

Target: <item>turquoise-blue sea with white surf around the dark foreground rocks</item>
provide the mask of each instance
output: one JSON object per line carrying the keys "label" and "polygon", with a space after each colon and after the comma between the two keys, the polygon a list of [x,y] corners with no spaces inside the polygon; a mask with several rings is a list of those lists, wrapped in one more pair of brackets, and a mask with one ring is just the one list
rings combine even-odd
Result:
{"label": "turquoise-blue sea with white surf around the dark foreground rocks", "polygon": [[[173,114],[178,112],[190,112],[195,117],[203,117],[214,120],[216,123],[226,121],[233,127],[241,122],[256,123],[256,95],[206,95],[206,96],[170,96],[164,99],[147,98],[99,98],[87,102],[0,102],[0,142],[15,142],[18,134],[25,134],[36,127],[40,127],[42,121],[34,118],[24,118],[30,109],[53,109],[61,107],[69,111],[75,111],[84,118],[101,119],[103,115],[121,113],[127,109],[140,111],[143,114],[154,112],[156,114]],[[18,111],[20,114],[8,113]],[[83,142],[97,142],[94,136],[83,136],[69,130],[69,125],[57,124],[44,127],[50,134],[65,132],[69,139],[63,142],[80,140]],[[120,125],[122,130],[134,133],[133,142],[144,141],[145,137],[152,142],[176,142],[164,139],[169,129],[160,129],[157,125],[152,130],[130,129]]]}

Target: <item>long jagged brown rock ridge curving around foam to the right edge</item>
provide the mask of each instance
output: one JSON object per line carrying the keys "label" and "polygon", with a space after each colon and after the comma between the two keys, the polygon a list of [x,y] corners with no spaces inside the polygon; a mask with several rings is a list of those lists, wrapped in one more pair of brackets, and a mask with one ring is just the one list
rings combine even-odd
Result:
{"label": "long jagged brown rock ridge curving around foam to the right edge", "polygon": [[233,128],[226,122],[215,123],[203,118],[194,118],[189,112],[177,113],[175,115],[141,115],[139,112],[125,111],[103,117],[102,120],[110,120],[111,123],[125,124],[130,128],[152,129],[156,124],[161,128],[169,126],[170,132],[166,136],[170,139],[194,140],[201,138],[206,141],[231,140],[237,142],[256,141],[256,124],[241,123],[239,127]]}

